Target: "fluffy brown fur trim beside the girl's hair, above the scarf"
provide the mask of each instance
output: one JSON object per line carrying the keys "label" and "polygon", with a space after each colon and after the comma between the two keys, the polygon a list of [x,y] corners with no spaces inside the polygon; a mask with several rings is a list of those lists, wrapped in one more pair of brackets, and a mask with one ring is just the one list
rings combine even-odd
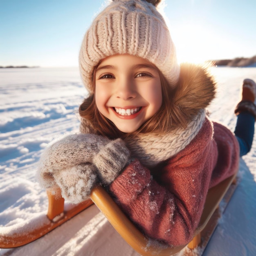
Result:
{"label": "fluffy brown fur trim beside the girl's hair, above the scarf", "polygon": [[180,79],[172,99],[176,124],[188,124],[214,99],[216,82],[209,74],[209,67],[210,65],[181,64]]}

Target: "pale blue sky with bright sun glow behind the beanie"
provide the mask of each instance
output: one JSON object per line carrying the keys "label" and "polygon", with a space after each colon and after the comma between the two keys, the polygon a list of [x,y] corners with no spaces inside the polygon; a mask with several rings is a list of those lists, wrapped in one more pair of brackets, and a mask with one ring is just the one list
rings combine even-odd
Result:
{"label": "pale blue sky with bright sun glow behind the beanie", "polygon": [[[0,65],[78,66],[104,0],[0,0]],[[255,0],[166,0],[180,62],[256,55]]]}

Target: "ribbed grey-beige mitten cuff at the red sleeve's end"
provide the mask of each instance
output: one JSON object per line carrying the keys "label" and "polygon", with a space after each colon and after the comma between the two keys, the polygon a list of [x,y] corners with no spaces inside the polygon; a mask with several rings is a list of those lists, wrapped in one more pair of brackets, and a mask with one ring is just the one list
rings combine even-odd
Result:
{"label": "ribbed grey-beige mitten cuff at the red sleeve's end", "polygon": [[129,159],[130,151],[122,139],[109,141],[93,159],[100,181],[106,185],[112,183]]}

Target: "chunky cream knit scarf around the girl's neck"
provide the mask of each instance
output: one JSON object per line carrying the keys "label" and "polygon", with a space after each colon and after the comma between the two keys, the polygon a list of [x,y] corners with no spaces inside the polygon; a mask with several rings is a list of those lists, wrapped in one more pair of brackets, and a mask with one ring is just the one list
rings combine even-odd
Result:
{"label": "chunky cream knit scarf around the girl's neck", "polygon": [[[184,149],[202,128],[206,111],[201,110],[188,124],[187,128],[177,128],[164,135],[159,133],[140,133],[135,138],[126,138],[126,146],[132,157],[136,157],[146,167],[152,168],[160,162],[176,155]],[[81,120],[82,133],[94,133],[85,119]]]}

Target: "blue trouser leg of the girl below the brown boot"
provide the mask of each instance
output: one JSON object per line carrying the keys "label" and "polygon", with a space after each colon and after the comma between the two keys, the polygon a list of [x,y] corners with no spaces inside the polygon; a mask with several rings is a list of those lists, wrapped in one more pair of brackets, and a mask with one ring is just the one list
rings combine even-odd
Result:
{"label": "blue trouser leg of the girl below the brown boot", "polygon": [[240,157],[252,148],[255,118],[249,112],[241,112],[237,116],[235,135],[240,146]]}

